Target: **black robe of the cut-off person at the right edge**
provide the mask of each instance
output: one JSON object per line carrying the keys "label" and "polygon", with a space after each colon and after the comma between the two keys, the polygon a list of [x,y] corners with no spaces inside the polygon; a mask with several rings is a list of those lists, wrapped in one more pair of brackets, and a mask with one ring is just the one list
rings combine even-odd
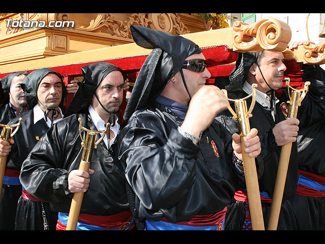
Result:
{"label": "black robe of the cut-off person at the right edge", "polygon": [[[308,66],[303,78],[312,82],[311,89],[315,93],[322,90],[325,71],[318,66]],[[324,136],[325,118],[300,127],[297,137],[299,169],[325,177]],[[325,197],[296,194],[289,201],[298,216],[300,230],[325,230]]]}

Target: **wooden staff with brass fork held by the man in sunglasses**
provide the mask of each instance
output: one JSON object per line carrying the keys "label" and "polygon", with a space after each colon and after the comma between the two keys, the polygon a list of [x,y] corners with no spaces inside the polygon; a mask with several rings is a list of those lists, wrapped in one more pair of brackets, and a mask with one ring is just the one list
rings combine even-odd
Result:
{"label": "wooden staff with brass fork held by the man in sunglasses", "polygon": [[[247,96],[246,98],[239,100],[228,99],[229,101],[235,102],[236,113],[231,108],[231,106],[229,106],[228,109],[233,114],[233,118],[237,120],[238,123],[252,228],[253,230],[264,230],[265,228],[263,220],[262,203],[261,196],[259,193],[255,159],[248,157],[247,153],[245,153],[245,141],[247,140],[246,136],[250,132],[248,119],[252,117],[251,111],[253,110],[253,107],[255,105],[256,86],[257,84],[252,85],[252,94]],[[227,97],[226,90],[223,89],[222,92]],[[245,100],[249,97],[252,97],[252,103],[250,105],[249,110],[247,111],[247,105]]]}

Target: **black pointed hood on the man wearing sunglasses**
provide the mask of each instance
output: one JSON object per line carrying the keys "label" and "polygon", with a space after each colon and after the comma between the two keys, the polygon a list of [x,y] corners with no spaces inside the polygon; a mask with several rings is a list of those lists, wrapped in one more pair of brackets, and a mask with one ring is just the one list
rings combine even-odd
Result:
{"label": "black pointed hood on the man wearing sunglasses", "polygon": [[182,69],[188,56],[202,52],[197,44],[182,36],[138,25],[131,25],[131,32],[137,45],[153,51],[141,67],[125,109],[125,121],[161,93],[170,79]]}

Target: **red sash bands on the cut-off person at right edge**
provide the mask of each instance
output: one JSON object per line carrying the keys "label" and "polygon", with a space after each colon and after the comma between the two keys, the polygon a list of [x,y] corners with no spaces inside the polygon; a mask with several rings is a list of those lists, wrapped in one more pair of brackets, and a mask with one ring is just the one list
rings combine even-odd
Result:
{"label": "red sash bands on the cut-off person at right edge", "polygon": [[[310,173],[310,172],[307,172],[304,170],[300,170],[300,169],[298,172],[300,175],[304,175],[307,178],[309,178],[313,181],[316,181],[321,185],[325,185],[325,177],[323,177],[323,176],[316,175],[316,174],[313,174],[313,173]],[[307,196],[307,197],[325,197],[325,192],[320,192],[320,191],[317,191],[315,189],[312,189],[310,187],[306,187],[306,186],[303,186],[300,184],[298,184],[296,194],[299,194],[302,196]]]}

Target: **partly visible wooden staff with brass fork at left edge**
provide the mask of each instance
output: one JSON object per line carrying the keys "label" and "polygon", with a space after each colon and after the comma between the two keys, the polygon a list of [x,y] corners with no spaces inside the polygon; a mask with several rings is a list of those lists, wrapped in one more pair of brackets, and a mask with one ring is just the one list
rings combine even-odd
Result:
{"label": "partly visible wooden staff with brass fork at left edge", "polygon": [[[18,131],[21,121],[22,121],[22,118],[19,118],[18,123],[15,125],[0,124],[0,126],[4,128],[3,132],[2,132],[1,139],[3,139],[4,141],[9,141],[9,139],[12,138]],[[14,130],[14,132],[12,132],[12,129],[14,127],[16,127],[16,129]],[[4,184],[6,165],[7,165],[7,156],[0,156],[0,198],[1,198],[1,193],[2,193],[2,187]]]}

